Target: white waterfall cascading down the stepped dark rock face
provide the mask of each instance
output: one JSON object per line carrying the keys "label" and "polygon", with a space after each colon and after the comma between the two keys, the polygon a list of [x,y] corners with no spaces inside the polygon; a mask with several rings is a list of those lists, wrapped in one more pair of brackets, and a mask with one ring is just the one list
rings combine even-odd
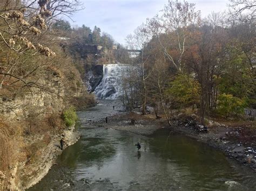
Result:
{"label": "white waterfall cascading down the stepped dark rock face", "polygon": [[123,75],[130,68],[127,64],[109,64],[103,66],[103,78],[94,93],[101,100],[116,100],[122,95]]}

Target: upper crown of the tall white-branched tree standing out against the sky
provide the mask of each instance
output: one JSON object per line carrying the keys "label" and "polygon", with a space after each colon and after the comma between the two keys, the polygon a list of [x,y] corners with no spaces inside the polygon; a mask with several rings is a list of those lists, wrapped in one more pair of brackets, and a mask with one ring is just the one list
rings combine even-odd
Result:
{"label": "upper crown of the tall white-branched tree standing out against the sky", "polygon": [[166,57],[173,66],[181,71],[184,67],[188,26],[199,24],[200,12],[194,10],[194,4],[178,0],[169,0],[164,6],[163,15],[147,19],[152,36],[157,37]]}

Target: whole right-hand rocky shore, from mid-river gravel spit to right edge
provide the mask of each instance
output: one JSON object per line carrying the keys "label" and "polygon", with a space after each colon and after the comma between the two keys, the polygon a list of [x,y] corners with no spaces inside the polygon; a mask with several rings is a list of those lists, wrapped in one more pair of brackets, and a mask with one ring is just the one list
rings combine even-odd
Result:
{"label": "whole right-hand rocky shore, from mid-river gravel spit to right edge", "polygon": [[[131,119],[135,121],[134,125],[131,124]],[[112,116],[104,126],[140,135],[151,135],[158,129],[171,129],[173,133],[180,133],[221,150],[228,158],[234,159],[242,166],[248,166],[256,172],[255,132],[247,135],[248,132],[244,133],[247,128],[234,128],[210,121],[207,133],[199,133],[196,130],[196,123],[195,117],[176,116],[172,118],[173,126],[170,128],[164,118],[155,119],[153,115],[143,116],[139,112],[133,112],[132,114]]]}

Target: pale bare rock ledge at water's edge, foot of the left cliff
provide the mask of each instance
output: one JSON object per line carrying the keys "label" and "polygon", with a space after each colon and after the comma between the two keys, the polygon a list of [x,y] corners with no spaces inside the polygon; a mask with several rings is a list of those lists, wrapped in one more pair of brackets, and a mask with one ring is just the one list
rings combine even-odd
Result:
{"label": "pale bare rock ledge at water's edge, foot of the left cliff", "polygon": [[[60,139],[64,138],[64,150],[70,145],[75,144],[79,140],[79,133],[75,131],[75,125],[68,130],[64,130],[60,135],[51,137],[51,142],[44,147],[39,157],[35,160],[30,159],[19,162],[16,166],[10,167],[11,179],[9,179],[10,190],[25,190],[36,185],[55,165],[57,157],[62,154],[60,149]],[[29,140],[27,140],[29,141]],[[33,139],[35,142],[41,142],[40,138]],[[4,181],[3,179],[1,179]]]}

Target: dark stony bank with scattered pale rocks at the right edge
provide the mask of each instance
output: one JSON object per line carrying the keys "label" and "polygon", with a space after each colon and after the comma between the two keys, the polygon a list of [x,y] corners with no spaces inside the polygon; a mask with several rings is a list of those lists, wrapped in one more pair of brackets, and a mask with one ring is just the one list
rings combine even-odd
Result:
{"label": "dark stony bank with scattered pale rocks at the right edge", "polygon": [[[233,128],[210,121],[207,133],[198,133],[193,117],[174,121],[174,130],[225,152],[232,159],[256,172],[256,130],[247,127]],[[192,124],[192,125],[191,125]],[[246,133],[245,133],[246,132]]]}

